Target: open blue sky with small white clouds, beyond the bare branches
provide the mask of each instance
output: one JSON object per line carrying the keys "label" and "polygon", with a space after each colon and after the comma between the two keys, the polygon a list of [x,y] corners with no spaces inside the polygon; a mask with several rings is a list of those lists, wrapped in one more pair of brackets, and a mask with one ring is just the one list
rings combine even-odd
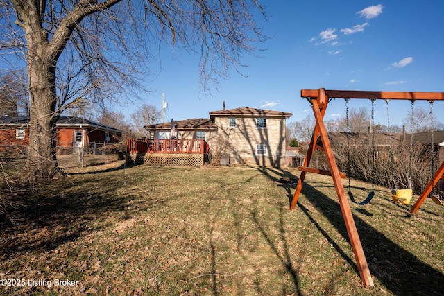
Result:
{"label": "open blue sky with small white clouds, beyond the bare branches", "polygon": [[[270,39],[262,58],[246,56],[243,75],[232,71],[212,96],[199,93],[198,56],[162,51],[162,70],[140,103],[162,107],[166,121],[207,118],[226,107],[291,112],[288,121],[311,114],[301,89],[444,92],[444,1],[262,1],[270,16],[260,21]],[[137,105],[137,103],[136,103]],[[130,114],[136,105],[124,106]],[[350,107],[367,100],[351,100]],[[429,109],[428,102],[416,106]],[[444,102],[434,104],[434,114]],[[409,101],[390,103],[391,124],[402,125]],[[345,102],[332,101],[326,118],[344,116]],[[129,116],[128,116],[129,118]],[[440,119],[443,122],[443,119]],[[386,124],[384,101],[375,103],[375,122]]]}

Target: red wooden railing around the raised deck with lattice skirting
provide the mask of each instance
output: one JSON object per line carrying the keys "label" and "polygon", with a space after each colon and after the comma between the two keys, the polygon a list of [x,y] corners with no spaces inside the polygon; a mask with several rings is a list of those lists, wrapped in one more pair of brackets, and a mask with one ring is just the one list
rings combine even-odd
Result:
{"label": "red wooden railing around the raised deck with lattice skirting", "polygon": [[129,153],[208,153],[208,145],[197,139],[128,139]]}

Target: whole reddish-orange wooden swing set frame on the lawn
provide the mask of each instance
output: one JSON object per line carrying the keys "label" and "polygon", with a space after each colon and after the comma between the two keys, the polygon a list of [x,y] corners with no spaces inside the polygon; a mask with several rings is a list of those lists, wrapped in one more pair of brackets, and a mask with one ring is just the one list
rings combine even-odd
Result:
{"label": "whole reddish-orange wooden swing set frame on the lawn", "polygon": [[[316,125],[311,136],[311,141],[309,143],[309,148],[307,150],[307,156],[303,166],[299,167],[301,171],[298,184],[296,186],[296,191],[291,200],[290,209],[296,207],[298,202],[300,191],[302,190],[302,184],[305,180],[305,175],[309,173],[318,173],[321,175],[330,175],[333,178],[334,188],[336,189],[336,194],[338,195],[339,205],[341,207],[342,216],[345,222],[345,227],[347,228],[348,237],[350,238],[350,244],[352,245],[353,253],[355,254],[355,259],[357,261],[357,267],[359,270],[359,275],[361,276],[361,281],[364,286],[373,286],[373,279],[370,275],[370,270],[368,268],[368,263],[364,250],[362,249],[361,240],[357,232],[355,225],[355,220],[352,216],[352,211],[350,209],[350,204],[348,204],[348,199],[345,195],[344,186],[341,182],[341,178],[345,177],[345,173],[339,172],[339,168],[336,164],[336,159],[334,158],[332,146],[330,144],[330,139],[327,135],[327,130],[325,129],[325,124],[323,118],[325,116],[325,111],[327,110],[327,105],[332,98],[345,98],[345,99],[370,99],[370,100],[426,100],[426,101],[438,101],[444,100],[444,93],[442,92],[365,92],[365,91],[342,91],[342,90],[325,90],[320,89],[302,89],[301,97],[306,98],[307,101],[311,103],[313,109],[314,118],[316,120]],[[318,137],[321,138],[321,147],[316,145]],[[328,166],[330,171],[318,170],[316,168],[309,168],[310,159],[317,148],[321,148],[327,158]],[[432,192],[432,189],[441,179],[444,174],[444,162],[441,164],[438,171],[434,174],[434,177],[427,185],[425,191],[420,195],[420,198],[413,205],[411,213],[415,213],[425,198]]]}

